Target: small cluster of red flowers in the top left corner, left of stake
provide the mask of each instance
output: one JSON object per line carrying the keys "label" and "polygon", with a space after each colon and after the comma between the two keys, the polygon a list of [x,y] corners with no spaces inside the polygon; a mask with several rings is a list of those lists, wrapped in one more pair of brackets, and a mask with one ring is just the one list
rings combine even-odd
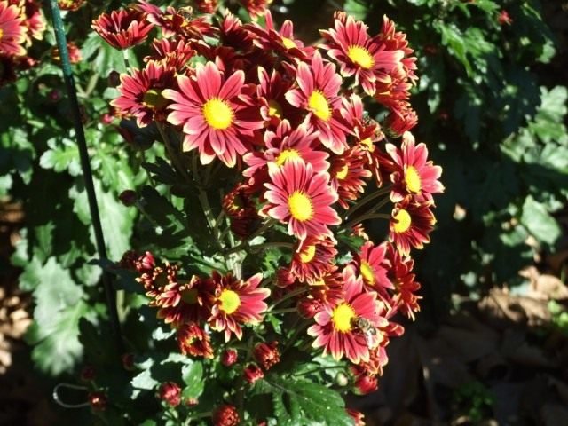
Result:
{"label": "small cluster of red flowers in the top left corner, left of stake", "polygon": [[17,71],[36,65],[28,47],[43,39],[45,26],[36,0],[0,1],[0,87],[15,80]]}

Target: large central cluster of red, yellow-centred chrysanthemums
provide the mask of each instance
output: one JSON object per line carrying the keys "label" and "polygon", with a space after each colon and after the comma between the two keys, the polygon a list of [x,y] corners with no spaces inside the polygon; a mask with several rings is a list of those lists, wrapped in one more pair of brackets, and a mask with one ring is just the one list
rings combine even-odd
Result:
{"label": "large central cluster of red, yellow-centred chrysanthemums", "polygon": [[[213,10],[216,2],[197,3]],[[265,3],[256,2],[263,7],[255,13]],[[189,12],[164,12],[139,0],[93,21],[117,49],[161,30],[145,67],[121,75],[111,104],[139,127],[156,123],[177,131],[181,150],[202,165],[233,168],[238,183],[222,206],[243,243],[231,252],[254,248],[252,236],[278,232],[282,224],[292,241],[281,246],[292,260],[264,282],[260,273],[247,280],[217,272],[182,278],[180,265],[156,262],[150,253],[130,253],[122,265],[138,272],[184,354],[231,359],[226,348],[241,339],[242,326],[263,321],[272,294],[276,304],[289,300],[296,308],[287,314],[312,321],[306,337],[313,348],[347,359],[357,388],[375,390],[385,347],[403,333],[393,316],[412,319],[419,310],[410,254],[430,241],[432,194],[444,190],[441,168],[408,131],[417,122],[408,100],[417,77],[406,36],[386,17],[380,33],[370,36],[363,22],[336,12],[333,28],[321,31],[323,42],[306,46],[291,21],[279,29],[270,12],[264,26],[243,24],[231,13],[214,21]],[[382,122],[365,112],[364,101],[372,99],[383,107]],[[376,189],[363,197],[367,187]],[[377,212],[387,205],[389,214]],[[362,225],[374,218],[389,221],[387,241],[379,244]],[[345,235],[364,242],[340,263]],[[228,343],[219,345],[223,353],[211,344],[215,331]],[[249,383],[280,358],[277,343],[259,343],[257,352],[244,370]]]}

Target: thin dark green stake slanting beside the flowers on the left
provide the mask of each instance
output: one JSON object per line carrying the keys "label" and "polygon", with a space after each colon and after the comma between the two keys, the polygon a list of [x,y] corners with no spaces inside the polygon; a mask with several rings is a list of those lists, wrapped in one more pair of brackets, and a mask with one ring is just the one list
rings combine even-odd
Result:
{"label": "thin dark green stake slanting beside the flowers on the left", "polygon": [[[81,121],[81,110],[79,109],[79,101],[77,99],[77,91],[75,89],[75,79],[71,71],[71,63],[69,61],[69,52],[67,51],[67,38],[65,36],[65,28],[63,28],[63,20],[61,20],[61,12],[57,0],[50,0],[51,16],[53,17],[53,28],[55,29],[55,38],[59,47],[59,57],[61,58],[61,67],[63,68],[63,77],[67,86],[67,96],[71,101],[71,110],[73,112],[73,121],[75,125],[75,134],[77,137],[77,145],[79,146],[79,155],[81,157],[81,169],[83,170],[85,190],[89,200],[89,209],[91,211],[92,227],[95,231],[95,241],[97,244],[97,252],[101,259],[106,259],[105,237],[103,229],[100,225],[99,206],[97,204],[97,195],[95,193],[95,185],[92,181],[91,162],[89,161],[89,153],[87,152],[87,142],[83,130],[83,122]],[[105,288],[106,304],[108,306],[108,314],[110,316],[111,326],[114,339],[116,341],[116,349],[119,355],[123,353],[121,325],[118,319],[116,309],[116,295],[111,284],[111,275],[103,271],[103,286]]]}

